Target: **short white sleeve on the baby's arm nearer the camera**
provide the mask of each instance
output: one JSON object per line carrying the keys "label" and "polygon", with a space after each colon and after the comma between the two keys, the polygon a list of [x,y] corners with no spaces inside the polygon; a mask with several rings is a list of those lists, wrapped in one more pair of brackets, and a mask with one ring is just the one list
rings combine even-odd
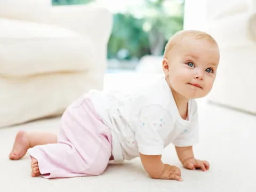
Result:
{"label": "short white sleeve on the baby's arm nearer the camera", "polygon": [[164,124],[158,123],[164,115],[161,106],[153,105],[143,108],[138,114],[137,131],[135,139],[138,144],[139,153],[144,155],[162,155],[164,141],[161,132]]}

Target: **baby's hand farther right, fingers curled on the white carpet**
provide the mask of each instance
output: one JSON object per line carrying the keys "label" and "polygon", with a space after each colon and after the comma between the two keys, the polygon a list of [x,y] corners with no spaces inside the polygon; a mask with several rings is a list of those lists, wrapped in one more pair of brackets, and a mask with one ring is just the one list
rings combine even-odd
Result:
{"label": "baby's hand farther right, fingers curled on the white carpet", "polygon": [[190,157],[183,161],[183,167],[190,170],[195,170],[199,168],[202,171],[206,171],[206,170],[209,170],[210,163],[207,161],[201,161],[201,160],[195,159],[194,157]]}

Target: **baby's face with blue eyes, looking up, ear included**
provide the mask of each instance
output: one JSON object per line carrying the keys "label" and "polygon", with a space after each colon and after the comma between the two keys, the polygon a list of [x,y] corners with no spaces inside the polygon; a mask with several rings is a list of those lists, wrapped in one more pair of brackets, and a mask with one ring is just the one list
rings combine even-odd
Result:
{"label": "baby's face with blue eyes, looking up, ear included", "polygon": [[163,60],[163,70],[174,95],[202,98],[212,89],[218,63],[219,49],[213,42],[183,37]]}

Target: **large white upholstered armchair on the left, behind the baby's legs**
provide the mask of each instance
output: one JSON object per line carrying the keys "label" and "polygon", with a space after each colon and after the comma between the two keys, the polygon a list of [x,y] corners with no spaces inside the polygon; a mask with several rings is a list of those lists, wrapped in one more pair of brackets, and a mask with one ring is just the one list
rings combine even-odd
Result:
{"label": "large white upholstered armchair on the left, behind the baby's legs", "polygon": [[0,1],[0,127],[60,115],[102,89],[111,27],[96,5]]}

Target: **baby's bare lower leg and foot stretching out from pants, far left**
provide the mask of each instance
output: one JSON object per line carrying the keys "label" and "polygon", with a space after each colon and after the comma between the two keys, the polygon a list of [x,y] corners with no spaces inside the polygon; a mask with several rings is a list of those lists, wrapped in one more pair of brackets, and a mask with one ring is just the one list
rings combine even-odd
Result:
{"label": "baby's bare lower leg and foot stretching out from pants, far left", "polygon": [[18,160],[22,158],[30,147],[56,143],[57,135],[50,132],[40,131],[19,131],[16,135],[9,158]]}

